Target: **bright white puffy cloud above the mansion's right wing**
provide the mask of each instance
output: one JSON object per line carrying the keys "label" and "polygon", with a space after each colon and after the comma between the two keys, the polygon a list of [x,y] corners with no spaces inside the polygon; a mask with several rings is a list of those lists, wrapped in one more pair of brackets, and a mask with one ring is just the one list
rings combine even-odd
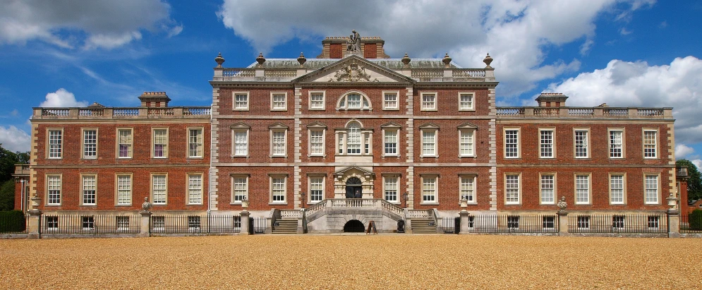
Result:
{"label": "bright white puffy cloud above the mansion's right wing", "polygon": [[648,66],[645,61],[612,60],[607,67],[580,73],[548,86],[568,95],[569,106],[673,107],[675,141],[702,142],[702,60],[674,59],[670,65]]}

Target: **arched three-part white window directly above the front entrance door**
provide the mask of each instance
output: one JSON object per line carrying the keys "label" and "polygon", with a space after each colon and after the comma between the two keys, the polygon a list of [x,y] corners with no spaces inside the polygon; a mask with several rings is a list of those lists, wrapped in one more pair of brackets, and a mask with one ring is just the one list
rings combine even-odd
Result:
{"label": "arched three-part white window directly above the front entrance door", "polygon": [[371,155],[373,151],[373,129],[363,128],[357,120],[346,123],[346,128],[337,131],[338,155]]}

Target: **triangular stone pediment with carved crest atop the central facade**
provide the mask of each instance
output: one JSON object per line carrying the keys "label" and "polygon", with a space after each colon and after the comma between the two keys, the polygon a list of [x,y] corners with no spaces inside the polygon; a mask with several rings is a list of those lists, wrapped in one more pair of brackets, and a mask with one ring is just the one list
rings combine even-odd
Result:
{"label": "triangular stone pediment with carved crest atop the central facade", "polygon": [[413,83],[406,77],[362,57],[351,55],[292,80],[293,83]]}

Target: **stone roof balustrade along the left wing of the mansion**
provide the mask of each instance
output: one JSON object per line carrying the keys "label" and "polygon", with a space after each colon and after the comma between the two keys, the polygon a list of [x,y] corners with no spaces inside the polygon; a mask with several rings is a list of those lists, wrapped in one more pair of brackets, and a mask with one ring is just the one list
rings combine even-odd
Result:
{"label": "stone roof balustrade along the left wing of the mansion", "polygon": [[210,107],[34,108],[32,119],[209,119]]}

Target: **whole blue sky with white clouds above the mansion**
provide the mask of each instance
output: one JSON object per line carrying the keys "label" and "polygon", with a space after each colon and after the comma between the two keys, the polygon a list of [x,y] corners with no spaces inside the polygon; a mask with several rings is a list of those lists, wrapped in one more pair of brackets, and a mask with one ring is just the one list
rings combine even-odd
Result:
{"label": "whole blue sky with white clouds above the mansion", "polygon": [[500,106],[543,91],[570,106],[674,107],[676,155],[702,154],[702,4],[698,1],[15,1],[1,0],[0,143],[29,150],[32,107],[138,106],[166,91],[174,106],[211,102],[224,66],[320,54],[325,36],[385,40],[400,58],[463,67],[495,59]]}

